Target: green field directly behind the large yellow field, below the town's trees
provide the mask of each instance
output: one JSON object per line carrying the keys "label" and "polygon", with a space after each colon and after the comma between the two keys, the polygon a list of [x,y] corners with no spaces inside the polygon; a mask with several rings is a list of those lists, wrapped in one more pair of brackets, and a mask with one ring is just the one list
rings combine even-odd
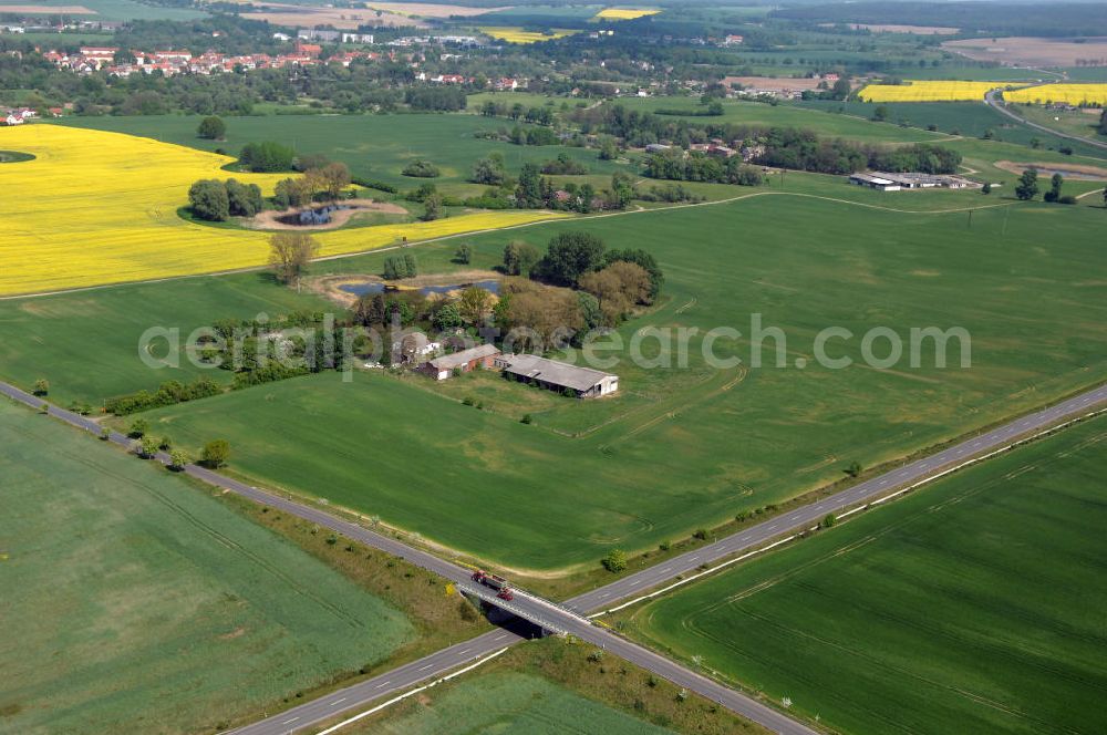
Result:
{"label": "green field directly behind the large yellow field, below the town's trees", "polygon": [[[608,175],[623,170],[611,162],[598,161],[594,151],[563,146],[519,146],[474,137],[478,131],[510,130],[509,120],[458,114],[403,115],[265,115],[227,118],[226,141],[196,136],[200,118],[192,115],[138,117],[68,117],[66,125],[130,133],[177,143],[194,148],[223,148],[236,155],[247,143],[279,141],[300,153],[322,153],[350,166],[355,176],[379,179],[404,189],[433,182],[451,194],[479,194],[485,189],[466,179],[473,165],[493,152],[504,155],[508,169],[518,173],[525,163],[541,164],[568,153],[584,163],[591,173]],[[403,176],[405,165],[425,158],[438,166],[434,179]]]}

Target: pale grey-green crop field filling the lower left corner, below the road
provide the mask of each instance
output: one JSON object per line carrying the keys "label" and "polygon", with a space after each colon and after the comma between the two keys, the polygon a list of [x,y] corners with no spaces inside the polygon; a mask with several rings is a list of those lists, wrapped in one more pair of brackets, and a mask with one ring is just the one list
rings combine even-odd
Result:
{"label": "pale grey-green crop field filling the lower left corner, below the road", "polygon": [[223,729],[413,635],[205,490],[7,402],[0,476],[0,731]]}

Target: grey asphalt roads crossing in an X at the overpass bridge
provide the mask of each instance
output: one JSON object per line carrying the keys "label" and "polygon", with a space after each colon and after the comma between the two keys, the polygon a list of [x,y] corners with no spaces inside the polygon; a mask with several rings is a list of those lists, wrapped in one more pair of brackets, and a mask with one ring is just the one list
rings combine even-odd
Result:
{"label": "grey asphalt roads crossing in an X at the overpass bridge", "polygon": [[[32,396],[7,383],[0,383],[0,394],[33,407],[39,407],[43,403],[41,398]],[[523,591],[517,591],[515,599],[510,603],[504,603],[496,600],[492,591],[487,588],[472,582],[468,569],[439,559],[432,553],[408,547],[394,538],[337,518],[318,508],[225,477],[205,467],[189,465],[185,472],[206,483],[250,498],[257,503],[279,508],[284,513],[299,516],[366,546],[403,557],[416,566],[454,581],[461,589],[476,593],[501,608],[510,610],[525,620],[550,630],[573,634],[680,686],[684,686],[690,691],[718,702],[723,706],[764,725],[773,732],[787,735],[811,735],[815,731],[806,725],[797,723],[785,714],[752,697],[723,686],[681,664],[593,624],[584,617],[584,613],[611,607],[620,600],[640,594],[650,588],[670,581],[677,574],[687,574],[696,570],[701,565],[711,563],[732,555],[755,549],[775,538],[789,535],[799,529],[810,528],[817,525],[829,513],[840,513],[846,508],[863,506],[867,503],[887,496],[896,488],[918,483],[974,456],[987,454],[989,452],[1007,446],[1021,436],[1041,431],[1066,420],[1088,414],[1105,402],[1107,402],[1107,385],[1087,391],[1022,418],[1016,418],[980,436],[969,438],[937,454],[846,488],[817,503],[765,520],[711,545],[687,551],[655,567],[620,578],[610,584],[578,596],[563,605],[558,605]],[[52,416],[85,431],[95,434],[99,434],[101,431],[101,427],[95,422],[70,411],[49,406],[49,412]],[[130,445],[130,439],[121,434],[112,434],[111,439],[124,446]],[[168,460],[168,457],[165,455],[158,455],[157,458],[163,463]],[[520,640],[518,635],[504,630],[485,633],[472,641],[449,646],[369,681],[354,684],[278,715],[263,718],[236,731],[236,733],[280,735],[282,733],[294,732],[308,725],[334,717],[343,712],[363,708],[368,703],[381,698],[386,694],[438,677],[464,663],[505,645],[517,643]]]}

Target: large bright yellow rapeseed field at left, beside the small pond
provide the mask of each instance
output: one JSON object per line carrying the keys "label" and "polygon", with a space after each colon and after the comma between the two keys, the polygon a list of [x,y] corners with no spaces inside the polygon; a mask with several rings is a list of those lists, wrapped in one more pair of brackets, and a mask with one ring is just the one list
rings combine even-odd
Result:
{"label": "large bright yellow rapeseed field at left, beside the small pond", "polygon": [[[259,184],[287,175],[230,174],[230,158],[120,133],[29,124],[0,127],[0,151],[34,161],[0,164],[0,294],[263,266],[265,232],[187,222],[177,208],[199,178]],[[496,211],[432,222],[317,232],[322,256],[371,250],[558,215]]]}

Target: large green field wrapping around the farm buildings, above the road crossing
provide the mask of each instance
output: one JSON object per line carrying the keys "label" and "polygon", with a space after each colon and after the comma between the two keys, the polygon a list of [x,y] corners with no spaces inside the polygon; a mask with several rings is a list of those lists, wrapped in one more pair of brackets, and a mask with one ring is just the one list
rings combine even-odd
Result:
{"label": "large green field wrapping around the farm buildings, above the road crossing", "polygon": [[[882,201],[921,200],[912,196],[925,193]],[[544,245],[580,228],[609,247],[654,252],[665,299],[619,333],[629,344],[645,327],[697,329],[687,366],[646,369],[621,353],[619,396],[555,402],[532,426],[509,408],[446,400],[428,382],[342,383],[334,374],[151,418],[190,446],[228,438],[238,472],[486,559],[526,569],[588,563],[611,547],[650,548],[793,497],[841,477],[852,460],[900,457],[1094,383],[1107,366],[1107,287],[1090,276],[1107,258],[1094,237],[1100,219],[1098,208],[1032,204],[977,209],[970,229],[964,210],[907,214],[763,191],[466,238],[478,267],[492,266],[509,239]],[[418,252],[431,269],[455,247]],[[377,272],[381,258],[318,271]],[[754,313],[785,331],[785,368],[747,368]],[[912,327],[961,327],[972,337],[972,366],[959,366],[954,341],[944,369],[925,345],[919,368],[795,368],[829,325],[856,335],[831,350],[856,361],[859,335],[875,327],[903,340]],[[743,332],[716,352],[745,364],[707,366],[701,338],[716,327]],[[642,352],[669,354],[653,340]],[[772,340],[765,360],[775,364]],[[489,408],[509,403],[490,397]]]}

